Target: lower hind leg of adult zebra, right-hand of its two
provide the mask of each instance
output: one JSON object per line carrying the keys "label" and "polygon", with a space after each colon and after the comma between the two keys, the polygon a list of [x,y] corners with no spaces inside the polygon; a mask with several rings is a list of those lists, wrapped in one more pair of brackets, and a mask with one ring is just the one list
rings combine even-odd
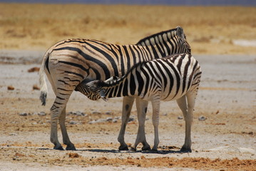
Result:
{"label": "lower hind leg of adult zebra, right-hand of its two", "polygon": [[59,118],[58,123],[61,126],[61,133],[62,133],[63,143],[65,145],[67,145],[66,150],[76,150],[75,145],[73,145],[71,140],[69,140],[69,138],[68,138],[68,133],[67,133],[67,130],[66,130],[65,120],[66,120],[66,106],[61,112],[61,117]]}

